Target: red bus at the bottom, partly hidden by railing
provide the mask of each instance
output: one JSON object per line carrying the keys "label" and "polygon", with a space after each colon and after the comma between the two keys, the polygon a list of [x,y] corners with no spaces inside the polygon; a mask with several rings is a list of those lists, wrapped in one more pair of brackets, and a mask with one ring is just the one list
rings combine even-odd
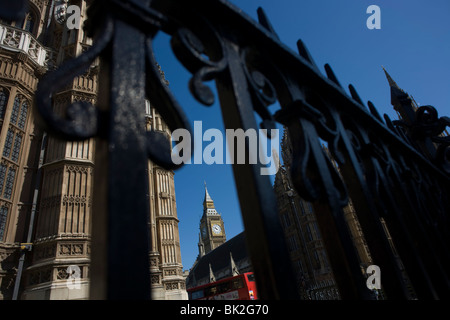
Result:
{"label": "red bus at the bottom, partly hidden by railing", "polygon": [[255,276],[252,272],[221,279],[187,289],[189,300],[256,300]]}

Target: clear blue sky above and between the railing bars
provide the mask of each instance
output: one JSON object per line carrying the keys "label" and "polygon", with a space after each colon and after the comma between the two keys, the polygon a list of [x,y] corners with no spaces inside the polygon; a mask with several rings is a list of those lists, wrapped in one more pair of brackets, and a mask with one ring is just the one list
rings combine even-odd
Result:
{"label": "clear blue sky above and between the railing bars", "polygon": [[[349,84],[380,114],[395,118],[382,66],[419,105],[450,115],[450,1],[448,0],[233,0],[252,19],[262,7],[281,42],[296,52],[298,39],[323,70],[328,63],[342,86]],[[369,30],[369,5],[381,9],[381,29]],[[220,107],[200,105],[188,90],[189,73],[173,57],[169,38],[158,35],[156,58],[191,125],[223,129]],[[323,71],[324,73],[324,71]],[[348,92],[348,91],[347,91]],[[207,143],[204,144],[205,147]],[[243,231],[230,165],[186,165],[175,172],[181,254],[189,269],[198,254],[204,181],[222,214],[227,238]]]}

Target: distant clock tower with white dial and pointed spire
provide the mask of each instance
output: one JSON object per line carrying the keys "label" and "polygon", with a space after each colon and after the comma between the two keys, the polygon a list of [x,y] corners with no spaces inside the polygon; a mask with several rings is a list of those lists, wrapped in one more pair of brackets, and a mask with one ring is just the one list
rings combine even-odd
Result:
{"label": "distant clock tower with white dial and pointed spire", "polygon": [[200,257],[214,250],[226,241],[222,216],[214,207],[214,201],[208,193],[205,183],[205,199],[203,200],[203,215],[200,219]]}

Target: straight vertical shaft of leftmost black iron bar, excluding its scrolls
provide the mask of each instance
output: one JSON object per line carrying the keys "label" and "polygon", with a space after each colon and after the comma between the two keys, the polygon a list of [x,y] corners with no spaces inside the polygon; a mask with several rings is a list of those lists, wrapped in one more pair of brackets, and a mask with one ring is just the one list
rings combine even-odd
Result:
{"label": "straight vertical shaft of leftmost black iron bar, excluding its scrolls", "polygon": [[95,299],[150,299],[145,35],[116,21],[111,54],[108,141],[99,139],[95,162],[96,178],[106,173],[107,186],[101,186],[105,176],[94,181],[98,210],[94,215],[98,217],[92,233],[99,242],[94,243],[97,248],[92,254],[96,264],[92,283],[98,286],[92,295]]}

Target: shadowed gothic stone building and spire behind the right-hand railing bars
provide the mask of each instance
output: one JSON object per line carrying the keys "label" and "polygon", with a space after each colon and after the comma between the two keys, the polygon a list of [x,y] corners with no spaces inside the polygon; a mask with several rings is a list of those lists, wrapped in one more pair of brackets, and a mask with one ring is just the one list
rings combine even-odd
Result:
{"label": "shadowed gothic stone building and spire behind the right-hand railing bars", "polygon": [[[414,111],[417,109],[416,102],[398,87],[386,70],[384,72],[391,89],[391,104],[394,110],[397,112],[399,119],[411,122],[414,118]],[[292,162],[292,145],[286,130],[283,135],[281,149],[284,165],[280,166],[275,176],[274,190],[292,266],[297,276],[296,280],[300,295],[303,299],[312,300],[339,299],[333,270],[328,262],[327,252],[317,225],[314,208],[310,202],[302,199],[293,188],[289,174]],[[330,157],[330,160],[339,172],[339,168],[333,161],[326,146],[324,146],[324,152]],[[364,234],[361,231],[357,213],[351,199],[344,208],[344,213],[354,246],[358,252],[361,272],[365,274],[367,267],[374,262],[372,261]],[[384,220],[381,222],[387,238],[390,240],[391,249],[396,255],[397,262],[402,270],[403,281],[409,290],[409,298],[414,299],[414,288],[412,288],[401,259],[396,253]],[[377,298],[383,298],[382,290],[376,294],[379,295]]]}

